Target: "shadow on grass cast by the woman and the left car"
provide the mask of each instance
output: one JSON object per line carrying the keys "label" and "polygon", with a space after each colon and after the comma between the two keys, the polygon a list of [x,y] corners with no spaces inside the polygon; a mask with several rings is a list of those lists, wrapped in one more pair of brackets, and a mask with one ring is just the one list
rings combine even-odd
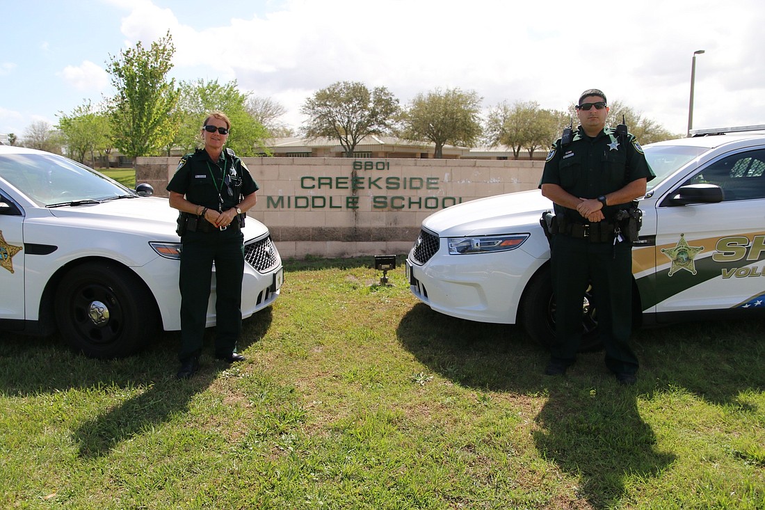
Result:
{"label": "shadow on grass cast by the woman and the left car", "polygon": [[[239,349],[265,335],[272,322],[271,309],[243,321]],[[5,394],[29,395],[67,391],[70,388],[105,391],[105,398],[120,392],[135,394],[121,400],[73,431],[80,456],[93,458],[109,453],[122,441],[151,430],[189,408],[194,395],[205,391],[221,371],[229,368],[212,358],[215,329],[205,333],[201,367],[193,378],[175,378],[179,362],[178,332],[162,333],[158,342],[129,358],[99,361],[77,355],[60,338],[18,337],[5,345],[8,355],[0,357],[0,387]],[[53,341],[53,342],[51,342]],[[114,389],[111,389],[111,388]]]}

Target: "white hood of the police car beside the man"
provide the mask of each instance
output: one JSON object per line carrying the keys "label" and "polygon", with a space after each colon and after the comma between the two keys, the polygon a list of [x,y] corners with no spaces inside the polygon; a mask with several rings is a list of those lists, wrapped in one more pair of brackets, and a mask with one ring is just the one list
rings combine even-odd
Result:
{"label": "white hood of the police car beside the man", "polygon": [[552,201],[539,189],[479,198],[442,209],[425,218],[422,227],[439,237],[514,234],[540,229],[542,211]]}

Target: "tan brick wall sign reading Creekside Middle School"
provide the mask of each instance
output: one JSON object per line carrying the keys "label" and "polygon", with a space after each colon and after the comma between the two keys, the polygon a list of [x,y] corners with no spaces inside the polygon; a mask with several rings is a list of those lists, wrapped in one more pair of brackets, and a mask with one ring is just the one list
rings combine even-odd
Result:
{"label": "tan brick wall sign reading Creekside Middle School", "polygon": [[[166,197],[178,158],[138,158],[135,182]],[[542,161],[244,158],[258,182],[250,217],[282,257],[407,253],[425,217],[443,208],[536,188]]]}

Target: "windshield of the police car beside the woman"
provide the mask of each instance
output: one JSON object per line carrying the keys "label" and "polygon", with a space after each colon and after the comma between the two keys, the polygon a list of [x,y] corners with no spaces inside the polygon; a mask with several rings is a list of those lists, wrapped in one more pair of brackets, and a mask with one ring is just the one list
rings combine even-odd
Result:
{"label": "windshield of the police car beside the woman", "polygon": [[42,207],[135,196],[106,175],[54,154],[0,155],[0,177]]}

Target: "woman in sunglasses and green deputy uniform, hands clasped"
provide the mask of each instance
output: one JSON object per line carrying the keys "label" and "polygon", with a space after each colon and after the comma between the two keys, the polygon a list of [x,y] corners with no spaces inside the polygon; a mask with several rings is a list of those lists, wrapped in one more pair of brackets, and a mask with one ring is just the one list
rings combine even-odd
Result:
{"label": "woman in sunglasses and green deputy uniform, hands clasped", "polygon": [[242,278],[246,211],[255,206],[258,185],[233,151],[223,150],[231,123],[210,113],[201,134],[204,149],[184,155],[168,184],[170,206],[181,211],[181,370],[190,378],[199,369],[213,262],[216,280],[215,357],[233,363],[242,330]]}

